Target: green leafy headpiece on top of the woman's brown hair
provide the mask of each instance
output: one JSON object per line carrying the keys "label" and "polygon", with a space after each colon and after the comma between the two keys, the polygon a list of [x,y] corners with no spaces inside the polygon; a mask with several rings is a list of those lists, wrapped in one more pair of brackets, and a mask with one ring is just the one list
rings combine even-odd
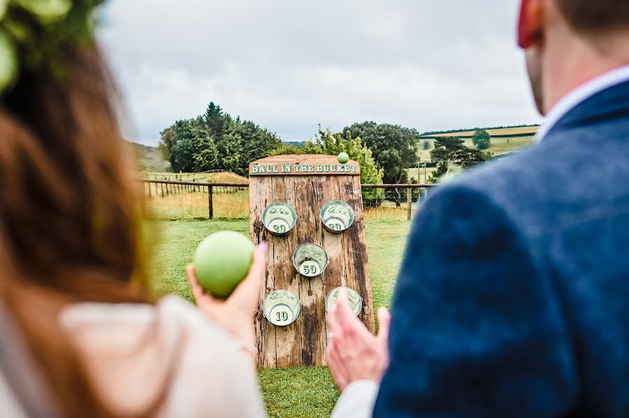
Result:
{"label": "green leafy headpiece on top of the woman's brown hair", "polygon": [[103,0],[0,0],[0,96],[22,69],[64,71],[64,52],[94,39]]}

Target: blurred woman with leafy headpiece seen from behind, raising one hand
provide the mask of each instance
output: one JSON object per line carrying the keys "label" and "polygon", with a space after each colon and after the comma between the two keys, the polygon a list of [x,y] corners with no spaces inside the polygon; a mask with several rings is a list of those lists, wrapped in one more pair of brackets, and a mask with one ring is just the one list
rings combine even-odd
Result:
{"label": "blurred woman with leafy headpiece seen from behind, raising one hand", "polygon": [[264,248],[227,301],[152,303],[95,0],[0,1],[0,411],[263,416]]}

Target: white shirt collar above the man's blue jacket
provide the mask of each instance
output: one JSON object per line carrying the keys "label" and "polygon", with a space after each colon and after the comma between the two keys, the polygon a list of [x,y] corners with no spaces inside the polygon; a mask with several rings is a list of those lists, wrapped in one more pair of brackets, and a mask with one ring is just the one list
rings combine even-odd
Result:
{"label": "white shirt collar above the man's blue jacket", "polygon": [[570,110],[576,108],[579,104],[583,103],[591,96],[602,92],[608,87],[620,84],[629,80],[629,65],[621,66],[617,69],[609,71],[605,74],[599,75],[597,78],[593,78],[588,82],[580,85],[572,92],[563,96],[563,99],[557,102],[557,104],[551,109],[546,118],[544,124],[537,129],[535,134],[535,142],[540,140],[548,134],[548,132],[564,117]]}

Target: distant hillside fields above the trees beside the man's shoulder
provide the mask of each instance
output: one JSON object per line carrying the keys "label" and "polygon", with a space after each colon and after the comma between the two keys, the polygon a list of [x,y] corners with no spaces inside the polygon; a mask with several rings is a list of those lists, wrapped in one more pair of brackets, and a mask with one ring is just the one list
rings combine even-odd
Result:
{"label": "distant hillside fields above the trees beside the man's shoulder", "polygon": [[[539,125],[520,125],[516,127],[486,128],[491,135],[491,147],[489,152],[494,155],[514,152],[533,143],[533,138]],[[481,128],[482,129],[482,128]],[[472,136],[477,129],[458,129],[454,131],[426,132],[419,136],[418,154],[421,161],[430,161],[431,150],[434,148],[435,139],[443,136],[454,136],[465,140],[465,145],[474,147]]]}

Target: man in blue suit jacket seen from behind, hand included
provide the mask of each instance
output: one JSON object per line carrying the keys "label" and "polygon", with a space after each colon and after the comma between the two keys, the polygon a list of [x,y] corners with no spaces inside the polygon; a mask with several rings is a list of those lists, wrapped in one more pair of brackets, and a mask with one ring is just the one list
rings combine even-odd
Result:
{"label": "man in blue suit jacket seen from behind, hand included", "polygon": [[334,417],[629,417],[629,1],[523,0],[519,43],[537,143],[426,201],[388,349],[340,297]]}

